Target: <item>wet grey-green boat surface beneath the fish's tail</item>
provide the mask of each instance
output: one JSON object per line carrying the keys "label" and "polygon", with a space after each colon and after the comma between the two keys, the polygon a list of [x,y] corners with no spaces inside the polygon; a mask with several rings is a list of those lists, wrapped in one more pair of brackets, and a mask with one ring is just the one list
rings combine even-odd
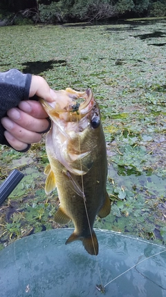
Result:
{"label": "wet grey-green boat surface beneath the fish's tail", "polygon": [[72,232],[40,232],[1,250],[0,296],[95,297],[102,282],[104,296],[166,297],[165,246],[95,230],[99,254],[91,256],[81,241],[64,244]]}

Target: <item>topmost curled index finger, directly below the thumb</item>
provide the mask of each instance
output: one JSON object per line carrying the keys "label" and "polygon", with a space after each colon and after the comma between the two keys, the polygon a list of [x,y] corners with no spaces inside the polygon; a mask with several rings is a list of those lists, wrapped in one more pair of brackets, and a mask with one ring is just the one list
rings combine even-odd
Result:
{"label": "topmost curled index finger, directly below the thumb", "polygon": [[19,109],[32,115],[34,118],[47,118],[48,114],[44,111],[42,104],[34,100],[21,101]]}

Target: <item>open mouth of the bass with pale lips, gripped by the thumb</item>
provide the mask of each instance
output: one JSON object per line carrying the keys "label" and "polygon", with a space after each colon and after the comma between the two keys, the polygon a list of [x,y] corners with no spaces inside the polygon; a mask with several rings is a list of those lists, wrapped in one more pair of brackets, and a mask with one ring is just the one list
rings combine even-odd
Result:
{"label": "open mouth of the bass with pale lips, gripped by the thumb", "polygon": [[[57,97],[62,97],[66,100],[67,104],[62,109],[57,102],[49,103],[44,99],[39,99],[42,106],[50,115],[50,118],[58,117],[66,122],[75,122],[81,120],[93,109],[94,98],[91,88],[87,88],[84,92],[77,92],[71,88],[66,90],[55,91]],[[77,102],[78,99],[84,99],[84,102]]]}

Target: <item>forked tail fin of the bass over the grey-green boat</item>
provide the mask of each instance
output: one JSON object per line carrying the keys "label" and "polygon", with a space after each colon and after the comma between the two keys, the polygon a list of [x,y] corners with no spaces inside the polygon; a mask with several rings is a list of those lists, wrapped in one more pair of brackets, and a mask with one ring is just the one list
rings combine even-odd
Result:
{"label": "forked tail fin of the bass over the grey-green boat", "polygon": [[94,230],[92,230],[92,236],[89,234],[87,237],[82,237],[76,234],[74,231],[71,236],[68,237],[65,244],[71,243],[73,241],[80,240],[87,252],[90,255],[98,255],[98,239],[95,235]]}

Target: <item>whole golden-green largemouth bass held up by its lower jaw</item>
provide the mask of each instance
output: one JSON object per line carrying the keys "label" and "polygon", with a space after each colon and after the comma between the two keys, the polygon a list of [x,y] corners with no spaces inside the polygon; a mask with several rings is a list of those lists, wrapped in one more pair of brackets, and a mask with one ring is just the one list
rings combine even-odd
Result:
{"label": "whole golden-green largemouth bass held up by its lower jaw", "polygon": [[[62,104],[42,105],[52,120],[46,137],[50,164],[45,169],[46,193],[57,187],[59,209],[55,222],[73,220],[75,230],[66,241],[81,240],[91,255],[98,255],[98,239],[93,230],[95,216],[107,216],[111,201],[106,189],[107,152],[100,109],[91,89],[57,91]],[[63,100],[64,98],[64,100]],[[79,103],[79,98],[84,99]],[[64,105],[66,102],[66,106]]]}

